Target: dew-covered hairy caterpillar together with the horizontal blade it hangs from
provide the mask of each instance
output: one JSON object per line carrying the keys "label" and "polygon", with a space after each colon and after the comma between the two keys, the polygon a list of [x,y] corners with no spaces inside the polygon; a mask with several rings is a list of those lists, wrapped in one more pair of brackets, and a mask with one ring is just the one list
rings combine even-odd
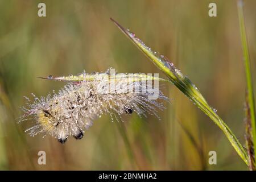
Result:
{"label": "dew-covered hairy caterpillar together with the horizontal blade it hangs from", "polygon": [[141,73],[117,74],[108,69],[102,73],[84,72],[77,76],[44,79],[68,83],[58,93],[47,97],[32,94],[32,101],[25,97],[28,102],[22,107],[24,114],[19,121],[32,123],[33,126],[26,130],[29,135],[51,135],[60,143],[65,143],[70,136],[81,139],[85,130],[102,114],[109,114],[112,121],[122,120],[122,115],[132,113],[140,117],[147,117],[147,114],[158,117],[156,109],[165,108],[159,100],[169,101],[158,90],[158,81],[167,80]]}

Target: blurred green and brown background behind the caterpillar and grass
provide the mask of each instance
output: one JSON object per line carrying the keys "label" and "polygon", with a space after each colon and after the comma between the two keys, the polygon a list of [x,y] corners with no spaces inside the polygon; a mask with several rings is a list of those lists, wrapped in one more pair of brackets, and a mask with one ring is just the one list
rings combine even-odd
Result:
{"label": "blurred green and brown background behind the caterpillar and grass", "polygon": [[[46,3],[45,18],[38,17],[39,2]],[[208,16],[210,2],[217,4],[217,17]],[[255,1],[245,0],[253,72],[255,6]],[[46,96],[64,85],[37,76],[109,67],[160,72],[110,17],[172,60],[245,143],[245,73],[236,1],[0,0],[0,169],[246,170],[220,129],[170,84],[163,84],[162,90],[174,100],[159,111],[161,121],[133,114],[118,123],[105,115],[82,140],[69,139],[64,145],[52,137],[24,133],[31,125],[17,123],[26,102],[23,96]],[[38,164],[41,150],[46,151],[46,165]],[[208,163],[212,150],[217,165]]]}

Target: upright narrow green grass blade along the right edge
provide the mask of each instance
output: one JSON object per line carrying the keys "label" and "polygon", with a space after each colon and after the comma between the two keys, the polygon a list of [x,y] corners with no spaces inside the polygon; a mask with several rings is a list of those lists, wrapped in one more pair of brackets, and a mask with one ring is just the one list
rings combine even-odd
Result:
{"label": "upright narrow green grass blade along the right edge", "polygon": [[[253,94],[253,82],[251,81],[251,69],[250,69],[250,57],[247,46],[247,38],[245,31],[245,20],[243,18],[243,1],[237,1],[238,18],[240,23],[240,34],[243,49],[243,60],[245,64],[246,83],[247,83],[247,104],[250,113],[250,125],[251,125],[251,138],[253,140],[253,146],[256,146],[256,121],[255,121],[255,105]],[[254,156],[256,156],[256,150],[254,150]],[[255,161],[254,161],[255,163]]]}

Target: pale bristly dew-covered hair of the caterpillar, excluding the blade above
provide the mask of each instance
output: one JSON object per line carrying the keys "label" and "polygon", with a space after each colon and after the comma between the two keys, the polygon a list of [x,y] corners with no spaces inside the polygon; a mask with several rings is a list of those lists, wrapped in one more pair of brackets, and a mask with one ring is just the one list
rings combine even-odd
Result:
{"label": "pale bristly dew-covered hair of the caterpillar, excluding the blade above", "polygon": [[[121,119],[123,114],[137,113],[146,117],[146,113],[156,115],[156,108],[162,110],[164,106],[157,100],[150,100],[152,93],[142,86],[140,81],[127,82],[127,78],[115,80],[115,84],[133,84],[134,90],[139,92],[102,92],[106,80],[84,80],[69,82],[59,93],[49,94],[46,98],[36,97],[23,107],[24,115],[20,121],[30,120],[34,126],[26,131],[31,136],[43,133],[57,138],[64,143],[69,136],[81,139],[85,129],[93,120],[102,114],[110,114],[112,121]],[[110,90],[113,88],[109,88]],[[158,100],[168,101],[159,90]],[[158,117],[159,118],[159,117]],[[160,119],[160,118],[159,118]]]}

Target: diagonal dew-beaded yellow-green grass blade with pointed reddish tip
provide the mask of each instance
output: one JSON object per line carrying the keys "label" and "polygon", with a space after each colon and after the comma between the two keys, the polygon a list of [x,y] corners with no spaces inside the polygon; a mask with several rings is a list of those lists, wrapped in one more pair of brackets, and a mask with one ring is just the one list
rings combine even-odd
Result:
{"label": "diagonal dew-beaded yellow-green grass blade with pointed reddish tip", "polygon": [[238,141],[237,137],[229,129],[224,121],[217,115],[216,110],[213,109],[205,100],[203,95],[199,92],[196,86],[192,83],[187,76],[184,76],[179,69],[177,69],[173,63],[171,63],[166,57],[159,55],[159,53],[152,51],[151,48],[147,47],[142,40],[137,38],[135,34],[129,30],[123,28],[115,20],[111,19],[118,28],[131,39],[131,41],[158,67],[161,69],[171,82],[187,96],[199,109],[201,109],[205,114],[208,115],[210,119],[220,129],[228,138],[229,142],[232,144],[237,154],[242,158],[242,160],[248,165],[248,156],[245,149],[242,147],[241,143]]}

